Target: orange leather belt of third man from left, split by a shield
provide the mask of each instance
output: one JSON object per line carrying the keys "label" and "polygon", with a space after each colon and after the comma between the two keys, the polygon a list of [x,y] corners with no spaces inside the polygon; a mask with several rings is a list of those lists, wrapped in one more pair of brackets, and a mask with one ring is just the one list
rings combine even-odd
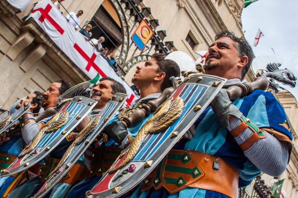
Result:
{"label": "orange leather belt of third man from left, split by a shield", "polygon": [[[40,183],[45,182],[45,178],[56,168],[60,159],[47,157],[44,165],[41,167],[41,172],[39,173]],[[89,170],[80,164],[74,164],[72,168],[67,172],[65,176],[58,183],[68,183],[73,185],[77,181],[81,181],[89,175]]]}

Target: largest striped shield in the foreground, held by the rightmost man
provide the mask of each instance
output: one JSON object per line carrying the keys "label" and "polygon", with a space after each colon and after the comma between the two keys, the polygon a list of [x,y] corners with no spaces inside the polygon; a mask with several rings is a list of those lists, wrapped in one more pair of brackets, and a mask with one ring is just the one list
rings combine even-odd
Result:
{"label": "largest striped shield in the foreground, held by the rightmost man", "polygon": [[[184,83],[173,91],[153,115],[166,119],[159,117],[156,122],[151,119],[152,116],[137,134],[147,125],[144,136],[135,137],[86,197],[119,197],[140,183],[197,120],[225,82],[226,79],[211,75],[197,74],[185,78]],[[167,104],[168,107],[164,108]],[[167,109],[168,112],[163,115],[162,111]],[[175,119],[172,121],[171,117]],[[167,128],[164,129],[164,125],[168,125]],[[140,146],[136,147],[138,142],[135,141],[141,142]]]}

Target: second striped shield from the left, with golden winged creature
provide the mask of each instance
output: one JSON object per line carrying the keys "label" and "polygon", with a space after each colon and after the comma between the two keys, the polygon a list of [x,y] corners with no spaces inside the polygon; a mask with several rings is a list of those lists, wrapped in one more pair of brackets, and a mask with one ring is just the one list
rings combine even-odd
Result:
{"label": "second striped shield from the left, with golden winged creature", "polygon": [[[0,177],[10,176],[26,170],[45,158],[48,153],[59,145],[63,138],[66,138],[66,136],[72,132],[77,124],[93,109],[96,103],[95,100],[83,96],[76,96],[66,102],[52,119],[47,122],[47,124],[52,122],[53,127],[51,128],[51,126],[48,125],[49,129],[42,134],[39,140],[36,139],[38,136],[36,135],[30,145],[22,151],[20,156],[15,159],[6,170],[1,171]],[[65,120],[61,121],[63,118]],[[53,121],[53,119],[55,119],[55,121]],[[59,123],[60,127],[55,128]],[[41,128],[41,130],[44,128],[45,126]],[[40,133],[41,130],[38,133]],[[33,144],[36,144],[36,146],[32,146]]]}

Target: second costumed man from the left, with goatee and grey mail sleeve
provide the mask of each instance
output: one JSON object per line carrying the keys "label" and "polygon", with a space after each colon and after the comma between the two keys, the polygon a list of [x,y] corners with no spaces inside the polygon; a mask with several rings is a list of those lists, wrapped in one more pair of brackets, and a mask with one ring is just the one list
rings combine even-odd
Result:
{"label": "second costumed man from the left, with goatee and grey mail sleeve", "polygon": [[[38,115],[37,117],[34,117],[33,113],[30,113],[30,112],[26,112],[22,116],[21,119],[23,119],[23,121],[21,120],[21,123],[23,122],[24,125],[21,130],[21,135],[25,144],[27,145],[30,144],[30,142],[32,142],[33,138],[38,133],[38,131],[44,126],[46,122],[48,122],[51,119],[52,115],[56,113],[56,110],[53,108],[56,107],[57,100],[59,99],[60,95],[63,94],[69,88],[71,88],[71,84],[65,80],[58,80],[52,83],[51,85],[49,85],[49,88],[47,89],[47,91],[42,94],[43,98],[41,101],[41,107],[43,107],[45,111],[41,115]],[[18,146],[18,151],[15,153],[16,154],[15,156],[18,156],[22,150],[23,150],[23,142],[21,142],[21,146]],[[40,164],[35,164],[34,166],[32,166],[30,168],[30,172],[33,174],[31,174],[29,178],[31,178],[32,176],[34,177],[35,175],[38,175],[40,168],[41,168]],[[24,172],[21,172],[21,173],[24,173]],[[25,184],[27,184],[28,182],[29,183],[32,182],[32,180],[35,181],[36,177],[28,180]],[[17,184],[18,182],[15,181],[15,185]],[[14,187],[15,186],[11,186],[10,190],[13,189]],[[32,188],[32,186],[30,187]],[[27,188],[26,191],[30,191],[33,189]],[[5,192],[6,195],[8,194],[7,190]],[[11,193],[13,193],[13,191],[10,192],[9,194]],[[24,194],[20,194],[16,197],[23,197],[23,196]]]}

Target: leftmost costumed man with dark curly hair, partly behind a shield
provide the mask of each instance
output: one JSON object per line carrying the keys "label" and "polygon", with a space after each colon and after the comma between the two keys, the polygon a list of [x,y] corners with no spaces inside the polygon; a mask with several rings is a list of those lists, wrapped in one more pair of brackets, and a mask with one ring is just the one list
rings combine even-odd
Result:
{"label": "leftmost costumed man with dark curly hair, partly behind a shield", "polygon": [[[0,156],[1,156],[1,166],[0,170],[6,169],[21,153],[23,150],[24,145],[26,143],[24,142],[22,138],[21,132],[24,131],[24,124],[30,122],[30,119],[28,119],[28,115],[33,116],[33,113],[38,113],[41,104],[42,104],[43,98],[42,93],[39,91],[35,91],[32,94],[29,94],[26,98],[21,99],[20,103],[16,105],[16,109],[20,109],[26,102],[30,103],[31,108],[27,110],[27,112],[21,116],[20,120],[20,127],[15,127],[16,130],[7,130],[4,131],[1,134],[1,140],[0,140]],[[21,130],[19,130],[21,129]],[[18,174],[17,177],[15,176],[8,176],[4,178],[0,178],[0,196],[6,197],[5,192],[7,190],[10,190],[10,185],[13,183],[13,181],[18,178],[18,176],[21,176],[22,174]]]}

